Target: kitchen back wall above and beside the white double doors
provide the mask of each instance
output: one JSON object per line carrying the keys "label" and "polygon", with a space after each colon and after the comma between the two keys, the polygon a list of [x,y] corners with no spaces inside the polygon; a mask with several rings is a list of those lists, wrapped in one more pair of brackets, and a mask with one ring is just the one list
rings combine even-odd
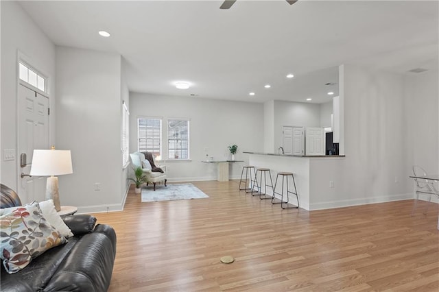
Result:
{"label": "kitchen back wall above and beside the white double doors", "polygon": [[320,104],[274,101],[274,149],[282,145],[282,126],[320,127]]}

